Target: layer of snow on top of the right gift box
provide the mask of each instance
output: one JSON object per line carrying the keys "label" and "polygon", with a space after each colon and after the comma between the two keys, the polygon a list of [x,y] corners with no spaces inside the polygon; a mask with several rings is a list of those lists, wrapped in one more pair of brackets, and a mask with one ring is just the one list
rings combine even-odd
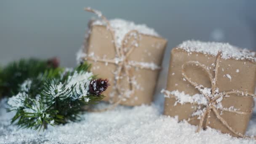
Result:
{"label": "layer of snow on top of the right gift box", "polygon": [[255,52],[249,51],[248,49],[237,48],[229,43],[187,40],[178,45],[178,48],[184,49],[187,52],[200,52],[213,56],[217,56],[218,52],[221,51],[221,58],[223,59],[234,58],[237,60],[249,59],[256,61]]}

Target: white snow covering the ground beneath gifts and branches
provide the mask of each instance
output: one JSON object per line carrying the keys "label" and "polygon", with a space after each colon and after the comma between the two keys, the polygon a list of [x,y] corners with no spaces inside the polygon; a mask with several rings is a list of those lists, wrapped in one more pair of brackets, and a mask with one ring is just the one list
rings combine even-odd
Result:
{"label": "white snow covering the ground beneath gifts and branches", "polygon": [[[106,105],[101,104],[101,107]],[[46,131],[18,129],[10,125],[13,113],[0,108],[0,144],[255,144],[253,139],[238,139],[208,128],[195,133],[196,126],[178,123],[175,118],[161,115],[159,105],[119,106],[108,112],[82,115],[82,121]],[[256,134],[256,117],[247,134]]]}

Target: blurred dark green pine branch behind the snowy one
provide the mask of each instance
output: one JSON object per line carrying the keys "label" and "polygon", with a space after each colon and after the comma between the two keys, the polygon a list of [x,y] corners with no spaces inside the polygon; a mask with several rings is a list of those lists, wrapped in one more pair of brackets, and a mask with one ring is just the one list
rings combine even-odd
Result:
{"label": "blurred dark green pine branch behind the snowy one", "polygon": [[56,58],[48,61],[39,59],[21,59],[0,68],[0,96],[12,96],[19,92],[19,85],[28,78],[35,78],[45,70],[58,67]]}

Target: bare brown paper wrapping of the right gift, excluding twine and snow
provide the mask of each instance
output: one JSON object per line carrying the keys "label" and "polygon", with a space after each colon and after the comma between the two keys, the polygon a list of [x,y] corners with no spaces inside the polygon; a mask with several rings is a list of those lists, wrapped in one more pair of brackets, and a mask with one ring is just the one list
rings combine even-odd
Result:
{"label": "bare brown paper wrapping of the right gift, excluding twine and snow", "polygon": [[[181,74],[181,66],[187,61],[198,61],[201,64],[205,64],[210,68],[210,71],[213,75],[216,56],[205,55],[203,53],[192,52],[188,53],[179,48],[173,48],[171,51],[171,61],[168,72],[168,83],[166,90],[180,92],[184,91],[185,94],[190,96],[199,93],[197,89],[188,81],[183,80]],[[236,69],[239,69],[239,72],[236,72]],[[211,88],[211,82],[208,75],[200,67],[189,66],[186,69],[186,74],[191,78],[192,81],[204,85],[207,88]],[[224,75],[230,75],[229,78],[224,77]],[[230,91],[236,89],[243,89],[250,93],[255,91],[255,81],[256,81],[256,63],[250,60],[235,60],[235,59],[221,59],[219,74],[218,74],[217,86],[219,91]],[[164,115],[176,116],[178,115],[179,120],[188,119],[192,117],[192,113],[195,112],[197,104],[185,103],[177,104],[174,106],[176,99],[175,98],[165,98],[165,108]],[[222,106],[229,108],[234,106],[236,109],[241,111],[248,111],[253,107],[253,98],[251,97],[241,97],[237,95],[231,95],[230,97],[223,97],[221,101]],[[237,115],[231,112],[220,112],[221,117],[227,121],[230,127],[235,131],[244,134],[250,120],[251,115]],[[209,123],[206,123],[206,126],[220,130],[222,133],[229,133],[232,136],[236,136],[231,131],[225,127],[220,120],[217,119],[216,115],[213,112],[210,112],[210,117],[208,118]],[[188,121],[192,125],[198,125],[199,119]]]}

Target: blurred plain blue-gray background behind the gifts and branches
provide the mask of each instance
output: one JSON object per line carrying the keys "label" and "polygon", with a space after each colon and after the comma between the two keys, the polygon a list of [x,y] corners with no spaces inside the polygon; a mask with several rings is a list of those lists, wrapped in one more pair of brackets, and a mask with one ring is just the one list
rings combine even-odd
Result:
{"label": "blurred plain blue-gray background behind the gifts and branches", "polygon": [[160,88],[171,48],[184,40],[228,42],[256,50],[256,0],[0,0],[0,64],[58,56],[74,67],[88,20],[86,6],[107,18],[144,23],[168,39]]}

